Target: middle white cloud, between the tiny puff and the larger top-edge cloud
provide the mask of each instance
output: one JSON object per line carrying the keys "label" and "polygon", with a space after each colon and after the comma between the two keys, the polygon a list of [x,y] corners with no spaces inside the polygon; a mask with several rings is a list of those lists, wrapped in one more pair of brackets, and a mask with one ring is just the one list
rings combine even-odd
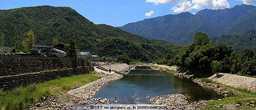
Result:
{"label": "middle white cloud, between the tiny puff and the larger top-edge cloud", "polygon": [[184,1],[181,3],[177,3],[177,6],[171,8],[171,10],[173,10],[173,12],[191,12],[192,10],[192,4],[191,1]]}

